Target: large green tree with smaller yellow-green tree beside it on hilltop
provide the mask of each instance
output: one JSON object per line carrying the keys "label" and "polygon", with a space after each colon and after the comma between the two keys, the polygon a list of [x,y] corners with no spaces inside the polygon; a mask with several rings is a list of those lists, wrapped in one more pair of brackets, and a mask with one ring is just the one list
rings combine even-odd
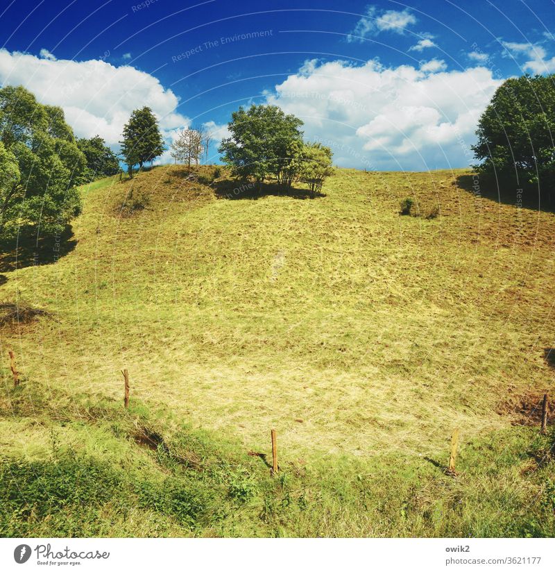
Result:
{"label": "large green tree with smaller yellow-green tree beside it on hilltop", "polygon": [[255,181],[259,187],[273,178],[290,188],[296,180],[307,183],[314,196],[332,174],[332,151],[302,140],[302,121],[277,106],[240,107],[228,124],[230,137],[219,147],[232,174]]}

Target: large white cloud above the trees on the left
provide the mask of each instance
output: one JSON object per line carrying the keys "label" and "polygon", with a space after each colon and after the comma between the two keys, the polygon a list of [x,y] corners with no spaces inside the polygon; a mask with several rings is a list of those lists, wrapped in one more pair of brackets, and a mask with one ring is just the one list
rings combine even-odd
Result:
{"label": "large white cloud above the trees on the left", "polygon": [[117,146],[131,112],[143,106],[160,119],[165,137],[189,124],[176,110],[176,94],[151,74],[104,60],[56,60],[44,49],[40,56],[0,49],[0,85],[24,85],[41,103],[62,107],[77,137],[98,134]]}

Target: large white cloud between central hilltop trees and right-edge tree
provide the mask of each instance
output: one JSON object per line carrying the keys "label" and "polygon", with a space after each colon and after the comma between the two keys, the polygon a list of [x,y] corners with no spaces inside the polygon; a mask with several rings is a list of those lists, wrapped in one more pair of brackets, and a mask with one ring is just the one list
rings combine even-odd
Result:
{"label": "large white cloud between central hilltop trees and right-edge tree", "polygon": [[367,169],[463,167],[481,112],[502,83],[485,67],[446,71],[344,61],[309,62],[266,94],[305,121],[305,137],[332,147],[334,162]]}

